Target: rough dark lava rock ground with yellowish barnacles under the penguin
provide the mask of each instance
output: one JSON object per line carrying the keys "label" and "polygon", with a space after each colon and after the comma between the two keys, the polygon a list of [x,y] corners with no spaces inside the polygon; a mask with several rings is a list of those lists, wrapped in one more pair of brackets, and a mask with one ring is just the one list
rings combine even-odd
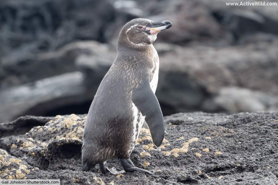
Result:
{"label": "rough dark lava rock ground with yellowish barnacles under the penguin", "polygon": [[[81,169],[86,115],[25,116],[0,125],[1,179],[61,179],[61,184],[277,184],[278,112],[177,113],[164,117],[153,146],[146,125],[131,160],[154,175],[102,175]],[[118,160],[109,168],[122,170]]]}

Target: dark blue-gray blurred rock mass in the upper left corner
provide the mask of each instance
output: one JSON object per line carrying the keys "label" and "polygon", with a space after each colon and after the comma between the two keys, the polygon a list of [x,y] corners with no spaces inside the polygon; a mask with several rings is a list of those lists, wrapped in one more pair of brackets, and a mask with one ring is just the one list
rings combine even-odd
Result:
{"label": "dark blue-gray blurred rock mass in the upper left corner", "polygon": [[[76,39],[105,41],[103,29],[115,18],[108,0],[2,1],[1,55],[11,49],[53,51]],[[105,11],[103,11],[105,10]]]}

